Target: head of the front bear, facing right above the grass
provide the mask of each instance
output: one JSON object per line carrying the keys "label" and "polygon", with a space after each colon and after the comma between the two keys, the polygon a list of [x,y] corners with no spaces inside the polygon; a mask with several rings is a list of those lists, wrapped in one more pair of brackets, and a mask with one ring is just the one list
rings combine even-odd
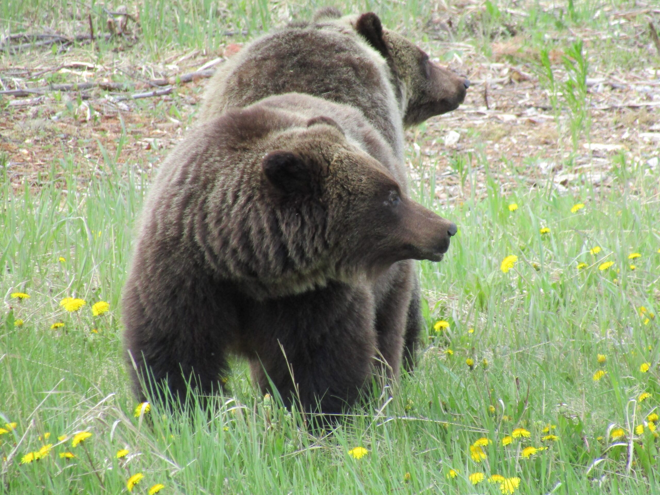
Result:
{"label": "head of the front bear, facing right above the grass", "polygon": [[307,125],[261,160],[262,191],[282,237],[295,240],[288,252],[316,252],[335,274],[376,274],[403,259],[440,261],[455,224],[407,197],[335,121],[317,117]]}

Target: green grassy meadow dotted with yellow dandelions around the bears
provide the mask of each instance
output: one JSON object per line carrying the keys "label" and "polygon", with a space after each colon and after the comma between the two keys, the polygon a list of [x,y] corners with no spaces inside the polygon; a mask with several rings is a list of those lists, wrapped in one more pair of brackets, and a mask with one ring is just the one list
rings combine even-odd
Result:
{"label": "green grassy meadow dotted with yellow dandelions around the bears", "polygon": [[[594,67],[641,66],[655,68],[657,80],[660,57],[632,24],[659,16],[618,0],[556,4],[475,1],[455,17],[449,42],[488,62],[492,45],[512,37],[506,26],[517,16],[525,53],[536,57],[525,67],[554,116],[556,137],[546,148],[574,182],[556,187],[552,175],[532,172],[543,161],[538,150],[523,149],[523,165],[491,156],[479,131],[467,131],[477,141],[469,152],[420,152],[442,145],[451,125],[444,117],[408,132],[414,197],[459,233],[442,263],[419,264],[426,329],[416,372],[394,390],[376,389],[368,407],[324,436],[261,397],[242,362],[233,366],[233,395],[218,398],[211,420],[199,408],[191,420],[151,411],[131,396],[119,299],[133,222],[166,147],[125,158],[141,129],[125,114],[116,136],[76,147],[58,138],[29,181],[13,179],[20,156],[0,152],[0,493],[660,493],[660,152],[622,147],[576,165],[598,123],[585,76]],[[80,46],[79,59],[137,64],[172,51],[213,52],[227,36],[243,42],[322,4],[127,5],[140,20],[134,44]],[[376,11],[387,26],[433,46],[425,26],[436,3],[339,6]],[[102,32],[110,8],[3,1],[0,23],[7,33],[50,26],[71,35],[90,18]],[[516,14],[521,9],[526,16]],[[627,25],[612,24],[597,15],[607,9],[634,14]],[[607,36],[582,46],[576,32]],[[552,50],[565,59],[552,59]],[[5,49],[0,67],[57,65],[59,56],[55,48]],[[1,98],[0,124],[20,125],[25,114]],[[131,112],[185,127],[196,107],[183,111],[182,102],[137,100]],[[69,103],[53,105],[62,118],[79,119]],[[660,122],[653,112],[644,118]],[[449,181],[458,191],[451,201],[442,195]],[[65,298],[85,304],[67,311],[75,304],[67,308]]]}

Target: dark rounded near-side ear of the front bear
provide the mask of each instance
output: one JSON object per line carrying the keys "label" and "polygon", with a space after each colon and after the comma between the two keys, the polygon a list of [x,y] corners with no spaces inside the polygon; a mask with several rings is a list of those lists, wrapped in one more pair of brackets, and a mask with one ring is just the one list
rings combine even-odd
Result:
{"label": "dark rounded near-side ear of the front bear", "polygon": [[315,174],[301,156],[285,150],[269,152],[261,160],[268,182],[284,195],[305,195],[314,188]]}

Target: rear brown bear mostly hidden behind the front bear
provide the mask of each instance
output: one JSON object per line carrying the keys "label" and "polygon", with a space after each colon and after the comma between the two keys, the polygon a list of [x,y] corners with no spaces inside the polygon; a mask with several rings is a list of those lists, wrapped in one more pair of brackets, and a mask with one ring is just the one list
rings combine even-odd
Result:
{"label": "rear brown bear mostly hidden behind the front bear", "polygon": [[[254,40],[209,83],[201,120],[285,92],[312,94],[359,109],[389,143],[389,167],[407,194],[403,127],[454,110],[469,81],[434,64],[399,34],[383,29],[374,13],[342,17],[323,9],[312,23],[293,24]],[[411,370],[422,326],[420,294],[413,263],[392,267],[381,277],[376,331],[379,350],[394,370]],[[395,307],[395,301],[398,304]],[[380,303],[379,303],[380,304]],[[407,308],[401,314],[400,305]]]}

